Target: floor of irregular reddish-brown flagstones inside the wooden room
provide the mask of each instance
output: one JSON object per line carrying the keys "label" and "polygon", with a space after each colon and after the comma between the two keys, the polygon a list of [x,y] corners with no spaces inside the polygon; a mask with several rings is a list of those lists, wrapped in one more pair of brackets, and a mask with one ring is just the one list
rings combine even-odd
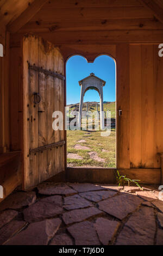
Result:
{"label": "floor of irregular reddish-brown flagstones inside the wooden room", "polygon": [[0,204],[3,245],[163,245],[158,186],[42,183]]}

